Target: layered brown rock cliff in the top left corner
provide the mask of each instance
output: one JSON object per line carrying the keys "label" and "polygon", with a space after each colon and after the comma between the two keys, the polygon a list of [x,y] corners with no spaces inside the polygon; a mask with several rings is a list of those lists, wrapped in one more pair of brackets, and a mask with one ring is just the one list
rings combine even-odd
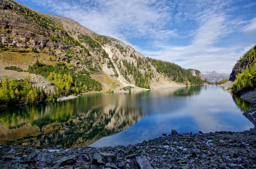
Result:
{"label": "layered brown rock cliff in the top left corner", "polygon": [[48,39],[42,29],[33,22],[27,21],[14,11],[24,12],[10,1],[0,1],[0,43],[11,47],[34,47],[41,49],[46,46]]}

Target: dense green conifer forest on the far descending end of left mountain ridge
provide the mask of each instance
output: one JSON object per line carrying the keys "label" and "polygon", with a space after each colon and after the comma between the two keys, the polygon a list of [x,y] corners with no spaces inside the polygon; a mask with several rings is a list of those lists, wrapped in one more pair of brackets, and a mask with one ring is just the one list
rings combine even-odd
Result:
{"label": "dense green conifer forest on the far descending end of left mountain ridge", "polygon": [[147,57],[147,60],[155,66],[158,73],[168,76],[174,82],[185,83],[189,81],[191,85],[202,85],[204,82],[204,80],[202,80],[200,77],[193,76],[190,69],[185,69],[174,63],[153,59],[150,57]]}

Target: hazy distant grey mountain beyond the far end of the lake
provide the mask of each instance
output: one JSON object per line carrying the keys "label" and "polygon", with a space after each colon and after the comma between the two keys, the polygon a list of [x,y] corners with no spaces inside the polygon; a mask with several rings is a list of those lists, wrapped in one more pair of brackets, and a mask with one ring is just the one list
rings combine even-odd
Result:
{"label": "hazy distant grey mountain beyond the far end of the lake", "polygon": [[220,82],[222,79],[229,79],[230,74],[226,73],[217,73],[215,71],[212,72],[202,72],[204,79],[207,79],[208,82]]}

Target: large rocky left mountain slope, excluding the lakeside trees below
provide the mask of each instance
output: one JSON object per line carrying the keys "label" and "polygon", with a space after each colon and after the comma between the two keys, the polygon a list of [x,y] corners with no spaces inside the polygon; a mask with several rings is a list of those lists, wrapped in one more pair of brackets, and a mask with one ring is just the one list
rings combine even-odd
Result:
{"label": "large rocky left mountain slope, excluding the lakeside trees below", "polygon": [[[190,76],[195,72],[167,74],[119,40],[98,35],[72,19],[39,13],[12,0],[0,0],[0,16],[0,78],[9,75],[5,66],[27,70],[37,59],[46,65],[64,63],[75,71],[86,70],[101,83],[103,92],[125,91],[129,86],[130,90],[185,86],[191,84]],[[18,79],[24,74],[8,71]],[[200,72],[196,72],[192,84],[201,83]],[[40,86],[37,80],[33,83]]]}

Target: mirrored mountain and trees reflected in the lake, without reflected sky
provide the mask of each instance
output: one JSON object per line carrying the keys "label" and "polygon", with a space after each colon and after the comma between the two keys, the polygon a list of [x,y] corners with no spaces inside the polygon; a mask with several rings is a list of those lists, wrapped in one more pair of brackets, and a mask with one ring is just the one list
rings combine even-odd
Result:
{"label": "mirrored mountain and trees reflected in the lake, without reflected sky", "polygon": [[[0,144],[26,144],[41,147],[61,145],[63,147],[88,146],[102,137],[113,135],[133,126],[139,120],[155,112],[164,113],[159,107],[167,103],[171,111],[179,111],[179,99],[200,94],[207,86],[149,90],[137,93],[90,94],[72,100],[44,104],[25,105],[2,109],[0,114]],[[250,104],[231,93],[241,111]],[[147,107],[145,107],[147,106]],[[176,109],[176,110],[175,110]]]}

